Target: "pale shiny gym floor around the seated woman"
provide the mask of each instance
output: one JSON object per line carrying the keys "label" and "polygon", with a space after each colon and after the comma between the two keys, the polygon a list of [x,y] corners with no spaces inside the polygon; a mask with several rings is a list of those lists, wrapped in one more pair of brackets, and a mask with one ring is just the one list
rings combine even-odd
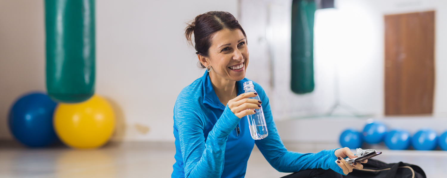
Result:
{"label": "pale shiny gym floor around the seated woman", "polygon": [[[287,146],[287,144],[286,144]],[[318,152],[320,150],[289,150]],[[445,178],[447,151],[381,150],[384,162],[407,162],[420,166],[427,178]],[[127,142],[97,150],[74,150],[65,146],[28,149],[15,142],[0,144],[0,178],[167,178],[172,173],[173,143]],[[247,178],[279,178],[289,173],[274,170],[253,149]]]}

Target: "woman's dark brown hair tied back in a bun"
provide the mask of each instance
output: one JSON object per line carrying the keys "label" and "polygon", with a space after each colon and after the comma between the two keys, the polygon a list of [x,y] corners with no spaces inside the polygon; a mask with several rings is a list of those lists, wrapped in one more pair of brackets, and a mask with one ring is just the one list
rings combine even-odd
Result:
{"label": "woman's dark brown hair tied back in a bun", "polygon": [[[196,18],[188,24],[185,29],[186,40],[193,45],[191,40],[191,35],[194,32],[194,48],[196,49],[196,54],[200,54],[204,57],[208,57],[208,49],[211,47],[211,37],[215,32],[227,29],[239,28],[240,31],[245,35],[244,29],[240,26],[236,18],[229,12],[222,11],[211,11],[204,14],[196,16]],[[201,63],[202,68],[205,68]]]}

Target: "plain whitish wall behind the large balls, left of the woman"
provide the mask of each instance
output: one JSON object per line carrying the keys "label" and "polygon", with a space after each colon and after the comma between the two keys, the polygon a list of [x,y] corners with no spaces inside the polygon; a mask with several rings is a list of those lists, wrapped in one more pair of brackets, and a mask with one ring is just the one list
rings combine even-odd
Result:
{"label": "plain whitish wall behind the large balls, left of the woman", "polygon": [[[0,138],[11,138],[13,101],[30,90],[45,91],[43,4],[0,1]],[[97,0],[96,93],[117,112],[115,139],[174,140],[177,94],[204,72],[186,43],[185,23],[213,10],[237,18],[237,1]]]}

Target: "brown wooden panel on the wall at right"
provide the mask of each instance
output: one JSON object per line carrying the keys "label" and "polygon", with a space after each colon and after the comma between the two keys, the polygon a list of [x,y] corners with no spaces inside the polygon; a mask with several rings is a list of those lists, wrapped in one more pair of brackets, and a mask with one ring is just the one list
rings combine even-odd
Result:
{"label": "brown wooden panel on the wall at right", "polygon": [[385,115],[431,114],[434,11],[384,16]]}

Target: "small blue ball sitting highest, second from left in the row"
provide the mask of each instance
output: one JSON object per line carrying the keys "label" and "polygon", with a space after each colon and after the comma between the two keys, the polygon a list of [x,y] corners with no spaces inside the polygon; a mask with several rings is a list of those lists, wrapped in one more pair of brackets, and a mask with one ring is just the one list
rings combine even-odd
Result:
{"label": "small blue ball sitting highest, second from left in the row", "polygon": [[387,127],[381,122],[372,122],[363,128],[363,140],[369,144],[376,144],[384,140]]}

